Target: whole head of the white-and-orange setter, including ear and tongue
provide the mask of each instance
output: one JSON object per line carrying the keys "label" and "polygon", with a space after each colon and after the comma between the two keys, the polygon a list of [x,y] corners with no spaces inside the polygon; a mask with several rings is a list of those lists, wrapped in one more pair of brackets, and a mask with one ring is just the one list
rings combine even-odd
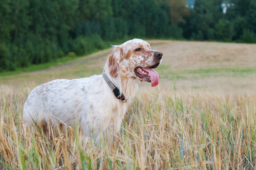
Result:
{"label": "whole head of the white-and-orange setter, including ear and tongue", "polygon": [[105,66],[110,76],[115,78],[121,74],[151,82],[152,87],[158,85],[159,76],[152,68],[159,66],[163,53],[151,50],[150,45],[142,39],[132,39],[113,47]]}

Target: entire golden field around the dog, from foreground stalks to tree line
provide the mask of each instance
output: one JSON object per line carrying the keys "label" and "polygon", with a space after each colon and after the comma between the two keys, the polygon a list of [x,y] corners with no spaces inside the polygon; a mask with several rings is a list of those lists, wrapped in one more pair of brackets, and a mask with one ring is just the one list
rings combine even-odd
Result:
{"label": "entire golden field around the dog, from foreground stalks to tree line", "polygon": [[0,77],[0,169],[255,169],[256,45],[148,42],[164,54],[159,85],[140,83],[112,145],[21,127],[34,87],[101,74],[111,50]]}

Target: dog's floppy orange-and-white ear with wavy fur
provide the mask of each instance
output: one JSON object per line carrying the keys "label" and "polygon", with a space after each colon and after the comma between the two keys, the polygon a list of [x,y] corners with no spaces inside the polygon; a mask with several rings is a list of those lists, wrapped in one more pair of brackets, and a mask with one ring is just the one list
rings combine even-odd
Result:
{"label": "dog's floppy orange-and-white ear with wavy fur", "polygon": [[105,65],[105,70],[108,71],[111,77],[116,77],[119,64],[123,59],[123,49],[120,46],[113,46],[113,52],[108,56],[107,63]]}

